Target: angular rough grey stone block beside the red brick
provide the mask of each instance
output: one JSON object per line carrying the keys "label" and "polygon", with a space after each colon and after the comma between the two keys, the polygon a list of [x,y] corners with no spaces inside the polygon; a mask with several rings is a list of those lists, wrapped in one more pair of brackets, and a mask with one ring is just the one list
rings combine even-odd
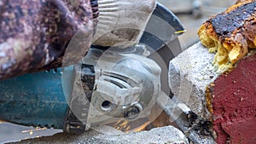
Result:
{"label": "angular rough grey stone block beside the red brick", "polygon": [[210,54],[201,43],[195,43],[170,61],[169,85],[172,93],[203,118],[209,117],[205,108],[207,85],[218,77],[212,66],[213,57],[214,54]]}

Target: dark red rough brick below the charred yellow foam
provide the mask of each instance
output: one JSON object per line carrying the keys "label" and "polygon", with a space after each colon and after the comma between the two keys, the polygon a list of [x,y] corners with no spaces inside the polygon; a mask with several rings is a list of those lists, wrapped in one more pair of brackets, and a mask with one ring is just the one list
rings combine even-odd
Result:
{"label": "dark red rough brick below the charred yellow foam", "polygon": [[213,130],[217,143],[256,143],[256,55],[241,60],[213,85]]}

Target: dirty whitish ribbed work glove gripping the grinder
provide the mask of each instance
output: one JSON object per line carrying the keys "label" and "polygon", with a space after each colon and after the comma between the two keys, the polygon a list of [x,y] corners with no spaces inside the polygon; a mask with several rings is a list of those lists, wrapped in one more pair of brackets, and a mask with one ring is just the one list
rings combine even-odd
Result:
{"label": "dirty whitish ribbed work glove gripping the grinder", "polygon": [[98,0],[98,4],[93,44],[125,48],[142,37],[156,0]]}

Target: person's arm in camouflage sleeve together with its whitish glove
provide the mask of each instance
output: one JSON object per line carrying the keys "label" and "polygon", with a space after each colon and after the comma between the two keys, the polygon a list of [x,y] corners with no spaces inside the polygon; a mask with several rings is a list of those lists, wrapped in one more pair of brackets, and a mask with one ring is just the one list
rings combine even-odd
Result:
{"label": "person's arm in camouflage sleeve together with its whitish glove", "polygon": [[0,79],[77,63],[91,43],[134,45],[154,8],[155,0],[2,0]]}

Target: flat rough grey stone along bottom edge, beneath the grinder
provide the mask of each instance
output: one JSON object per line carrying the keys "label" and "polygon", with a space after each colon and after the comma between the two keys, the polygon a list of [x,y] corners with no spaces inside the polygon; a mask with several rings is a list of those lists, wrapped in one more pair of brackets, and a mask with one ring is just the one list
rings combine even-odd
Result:
{"label": "flat rough grey stone along bottom edge, beneath the grinder", "polygon": [[150,131],[142,131],[131,134],[123,134],[118,130],[109,127],[97,128],[108,133],[100,133],[96,130],[90,130],[81,135],[70,135],[65,133],[56,134],[50,137],[20,141],[17,143],[80,143],[80,144],[138,144],[138,143],[159,143],[159,144],[186,144],[188,140],[180,130],[172,126],[156,128]]}

